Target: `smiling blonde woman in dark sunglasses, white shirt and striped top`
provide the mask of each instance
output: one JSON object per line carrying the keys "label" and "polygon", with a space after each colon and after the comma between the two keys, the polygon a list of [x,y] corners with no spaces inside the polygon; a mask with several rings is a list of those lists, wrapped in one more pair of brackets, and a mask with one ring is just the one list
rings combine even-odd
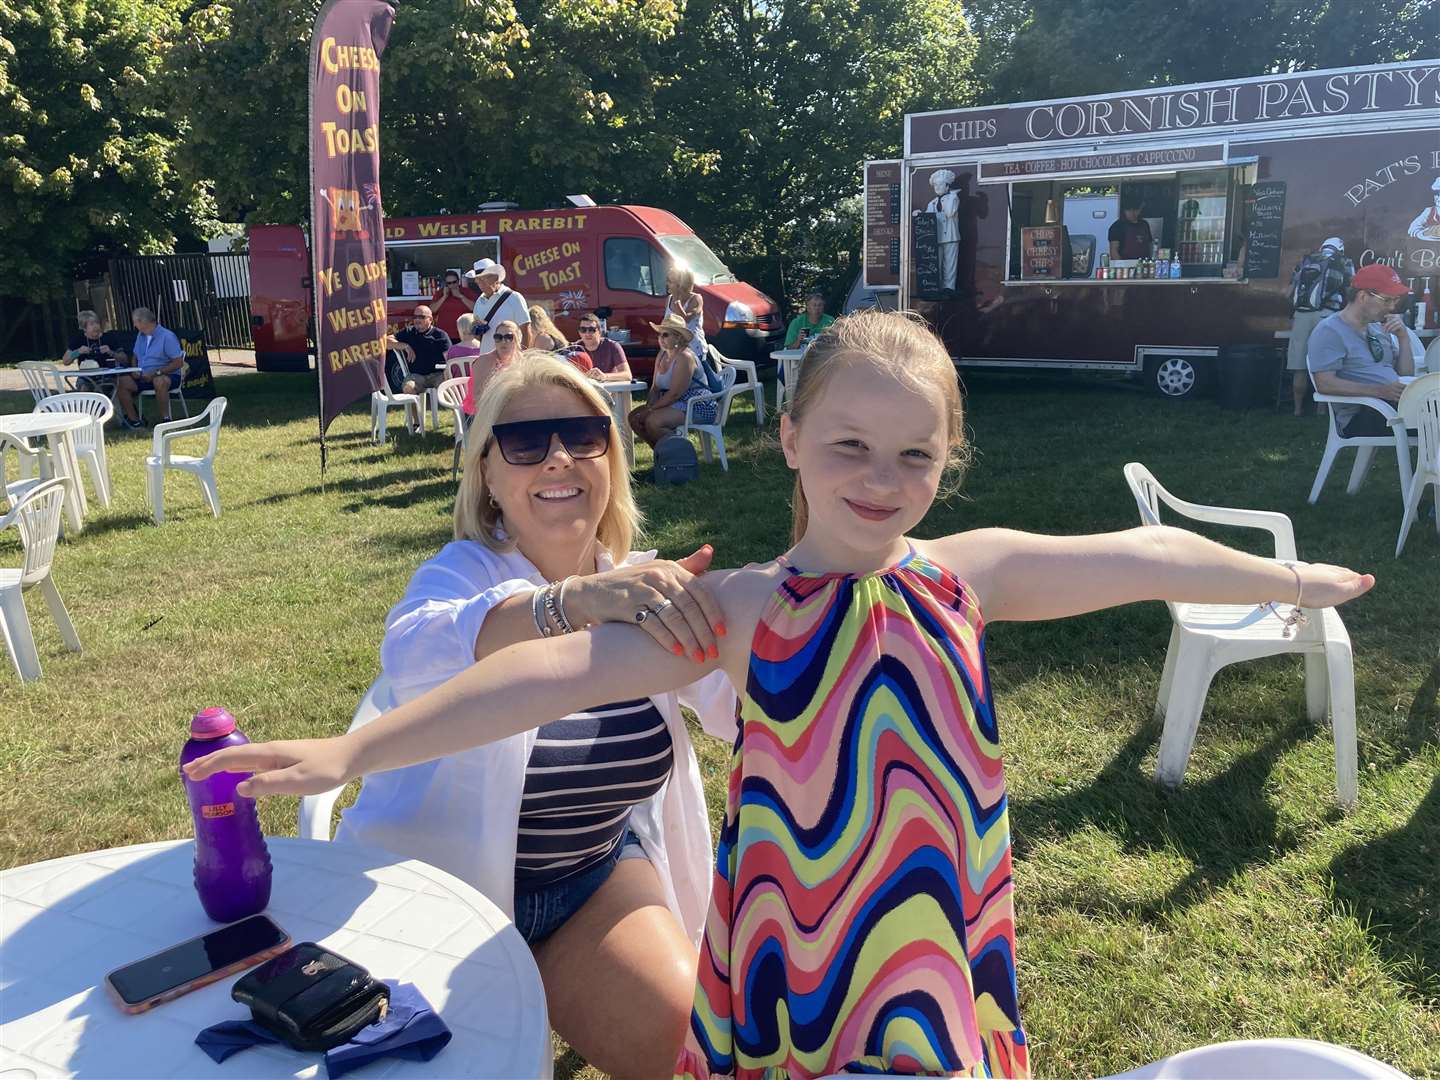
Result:
{"label": "smiling blonde woman in dark sunglasses, white shirt and striped top", "polygon": [[[719,609],[696,579],[710,550],[680,562],[632,550],[641,514],[589,379],[521,354],[481,395],[468,445],[455,540],[386,616],[380,662],[397,701],[514,642],[606,621],[639,625],[657,660],[684,654],[697,672],[717,655]],[[511,914],[554,1030],[618,1076],[668,1076],[710,896],[708,816],[680,701],[734,739],[723,675],[678,696],[606,698],[366,778],[337,834],[438,865]],[[647,1054],[654,1068],[641,1068]]]}

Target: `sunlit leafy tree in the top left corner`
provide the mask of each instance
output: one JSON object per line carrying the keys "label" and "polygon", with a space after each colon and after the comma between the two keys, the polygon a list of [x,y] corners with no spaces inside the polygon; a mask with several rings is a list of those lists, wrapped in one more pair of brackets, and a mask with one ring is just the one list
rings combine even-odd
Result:
{"label": "sunlit leafy tree in the top left corner", "polygon": [[171,251],[213,226],[176,168],[161,68],[183,0],[0,0],[0,282],[58,295],[94,251]]}

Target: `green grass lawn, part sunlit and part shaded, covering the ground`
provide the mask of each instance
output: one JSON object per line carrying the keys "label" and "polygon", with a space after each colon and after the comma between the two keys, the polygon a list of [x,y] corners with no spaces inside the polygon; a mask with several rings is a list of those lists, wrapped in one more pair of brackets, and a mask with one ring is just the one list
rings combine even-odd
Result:
{"label": "green grass lawn, part sunlit and part shaded, covering the ground", "polygon": [[[975,461],[926,536],[1129,527],[1120,468],[1133,459],[1184,498],[1283,511],[1302,559],[1378,576],[1344,609],[1361,760],[1348,814],[1333,801],[1329,730],[1305,719],[1299,658],[1221,672],[1187,783],[1164,792],[1151,780],[1162,605],[994,628],[1037,1074],[1106,1074],[1223,1038],[1295,1035],[1440,1076],[1440,539],[1423,521],[1392,559],[1391,455],[1377,455],[1354,497],[1346,455],[1309,507],[1320,418],[1171,406],[1086,379],[968,383]],[[331,429],[323,485],[308,377],[220,389],[225,516],[210,518],[194,481],[171,475],[170,520],[154,527],[148,433],[111,433],[115,505],[56,556],[85,652],[63,652],[35,598],[45,678],[22,688],[0,661],[0,865],[190,835],[176,757],[203,706],[229,707],[252,739],[344,730],[379,671],[386,609],[451,537],[448,431],[402,432],[382,449],[353,410]],[[29,405],[0,395],[0,412]],[[737,564],[785,547],[791,477],[756,435],[739,406],[729,474],[703,467],[685,488],[639,487],[664,554],[711,541],[717,564]],[[1260,550],[1269,537],[1228,539]],[[0,536],[0,566],[17,553],[16,534]],[[719,819],[726,747],[700,744]],[[266,802],[262,818],[294,834],[295,802]],[[593,1076],[573,1056],[557,1074]]]}

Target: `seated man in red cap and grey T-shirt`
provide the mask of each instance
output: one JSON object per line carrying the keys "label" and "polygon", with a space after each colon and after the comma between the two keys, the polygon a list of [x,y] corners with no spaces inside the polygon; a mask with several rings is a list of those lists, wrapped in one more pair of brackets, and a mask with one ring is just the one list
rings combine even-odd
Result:
{"label": "seated man in red cap and grey T-shirt", "polygon": [[[1355,272],[1345,308],[1322,320],[1310,334],[1305,363],[1316,393],[1400,400],[1405,389],[1400,376],[1416,373],[1410,334],[1395,314],[1395,305],[1407,295],[1410,289],[1390,266],[1371,264]],[[1335,425],[1346,438],[1390,433],[1385,418],[1374,409],[1364,405],[1331,408]]]}

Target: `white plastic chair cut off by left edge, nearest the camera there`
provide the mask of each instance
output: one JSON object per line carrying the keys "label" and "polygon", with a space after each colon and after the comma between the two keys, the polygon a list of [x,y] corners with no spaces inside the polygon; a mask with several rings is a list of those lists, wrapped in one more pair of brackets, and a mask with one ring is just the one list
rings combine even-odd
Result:
{"label": "white plastic chair cut off by left edge, nearest the camera there", "polygon": [[50,576],[63,505],[65,481],[46,480],[20,495],[14,510],[0,517],[0,533],[14,526],[24,546],[19,569],[0,569],[0,635],[4,636],[6,649],[22,683],[40,677],[40,654],[35,648],[30,616],[24,611],[24,593],[30,589],[40,588],[50,616],[60,628],[65,648],[71,652],[81,651],[79,635],[75,634],[75,625],[60,600],[60,590]]}

